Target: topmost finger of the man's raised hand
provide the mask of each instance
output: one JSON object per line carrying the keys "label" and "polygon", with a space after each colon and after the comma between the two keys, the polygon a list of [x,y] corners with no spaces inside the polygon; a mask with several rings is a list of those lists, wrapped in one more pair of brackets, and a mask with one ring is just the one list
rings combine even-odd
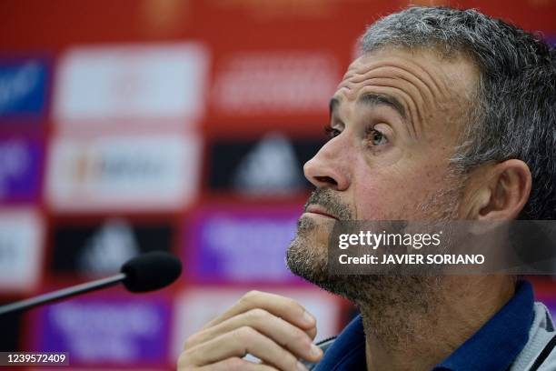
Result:
{"label": "topmost finger of the man's raised hand", "polygon": [[279,316],[283,320],[297,326],[307,332],[307,335],[316,335],[316,320],[309,314],[303,306],[290,299],[289,297],[278,296],[260,291],[250,291],[245,294],[236,304],[223,315],[213,319],[203,328],[216,326],[228,318],[241,315],[251,309],[261,308],[274,316]]}

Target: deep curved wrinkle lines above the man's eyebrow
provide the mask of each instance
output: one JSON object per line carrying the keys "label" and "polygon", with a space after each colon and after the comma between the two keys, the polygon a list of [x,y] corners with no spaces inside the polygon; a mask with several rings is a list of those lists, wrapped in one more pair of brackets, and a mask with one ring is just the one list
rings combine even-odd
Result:
{"label": "deep curved wrinkle lines above the man's eyebrow", "polygon": [[416,61],[406,58],[382,58],[372,63],[365,63],[363,58],[350,65],[338,88],[348,99],[372,90],[386,93],[393,89],[408,106],[415,129],[424,124],[423,117],[454,98],[448,78],[442,72],[432,75]]}

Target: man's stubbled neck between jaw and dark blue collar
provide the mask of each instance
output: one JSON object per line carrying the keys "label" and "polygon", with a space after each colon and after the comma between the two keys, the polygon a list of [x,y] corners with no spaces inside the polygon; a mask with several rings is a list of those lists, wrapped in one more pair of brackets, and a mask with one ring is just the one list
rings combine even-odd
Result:
{"label": "man's stubbled neck between jaw and dark blue collar", "polygon": [[357,303],[365,329],[368,371],[431,370],[514,294],[508,276],[416,280],[422,283],[422,279],[431,281],[411,285],[404,280],[393,291],[392,286],[384,287],[391,290],[389,300],[382,294],[379,300]]}

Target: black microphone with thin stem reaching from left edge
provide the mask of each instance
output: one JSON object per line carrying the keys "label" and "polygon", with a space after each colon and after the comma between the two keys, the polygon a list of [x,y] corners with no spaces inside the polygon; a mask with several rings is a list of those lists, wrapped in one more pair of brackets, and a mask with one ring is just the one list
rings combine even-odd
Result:
{"label": "black microphone with thin stem reaching from left edge", "polygon": [[156,251],[135,256],[122,266],[120,272],[118,275],[0,306],[0,316],[119,283],[123,283],[125,288],[133,293],[158,290],[172,284],[182,274],[182,262],[171,254]]}

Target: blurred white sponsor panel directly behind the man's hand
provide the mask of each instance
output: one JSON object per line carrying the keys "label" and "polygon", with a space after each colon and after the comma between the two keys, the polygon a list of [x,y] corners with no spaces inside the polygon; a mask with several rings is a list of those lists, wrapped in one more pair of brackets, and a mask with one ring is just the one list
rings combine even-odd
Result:
{"label": "blurred white sponsor panel directly behind the man's hand", "polygon": [[[184,340],[199,331],[207,322],[233,306],[252,287],[189,289],[179,296],[175,304],[173,358],[177,359],[184,349]],[[338,335],[341,321],[341,302],[331,294],[313,288],[260,288],[261,291],[291,297],[299,302],[317,319],[319,332],[315,341]]]}

